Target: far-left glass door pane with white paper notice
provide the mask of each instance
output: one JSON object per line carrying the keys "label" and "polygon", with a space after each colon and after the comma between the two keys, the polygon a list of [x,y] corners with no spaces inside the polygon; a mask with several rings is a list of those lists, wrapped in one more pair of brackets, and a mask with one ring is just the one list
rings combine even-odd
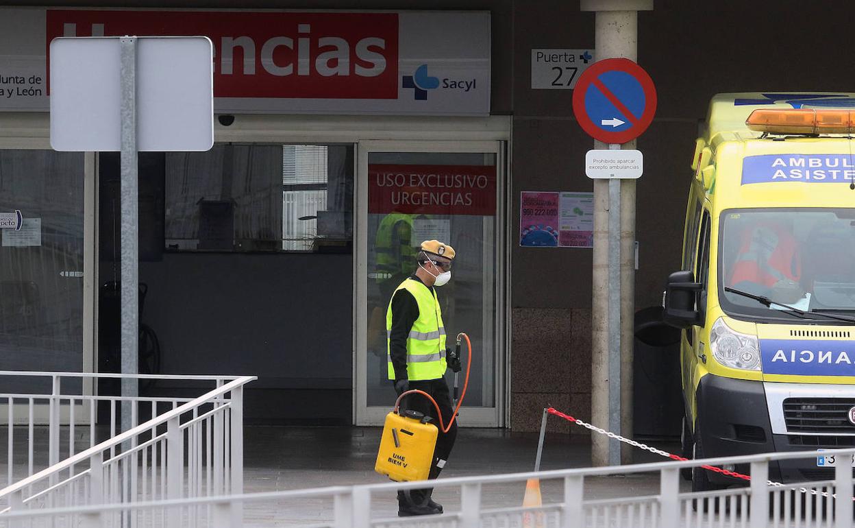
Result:
{"label": "far-left glass door pane with white paper notice", "polygon": [[[92,370],[93,157],[0,148],[0,370]],[[90,394],[68,381],[63,394]],[[0,393],[50,393],[50,378],[3,377]],[[38,410],[37,410],[38,413]]]}

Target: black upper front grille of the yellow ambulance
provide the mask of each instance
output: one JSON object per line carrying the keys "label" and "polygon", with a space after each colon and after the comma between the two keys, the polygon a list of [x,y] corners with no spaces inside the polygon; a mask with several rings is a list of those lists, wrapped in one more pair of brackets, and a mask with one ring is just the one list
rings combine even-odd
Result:
{"label": "black upper front grille of the yellow ambulance", "polygon": [[855,435],[849,409],[855,398],[787,398],[784,420],[789,433],[846,433]]}

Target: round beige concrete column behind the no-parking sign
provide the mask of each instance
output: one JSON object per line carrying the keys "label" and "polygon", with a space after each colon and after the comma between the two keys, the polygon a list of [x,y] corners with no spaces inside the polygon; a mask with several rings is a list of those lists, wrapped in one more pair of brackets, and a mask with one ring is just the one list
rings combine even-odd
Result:
{"label": "round beige concrete column behind the no-parking sign", "polygon": [[[606,58],[638,58],[637,11],[653,9],[652,0],[581,0],[582,11],[595,11],[594,50],[598,61]],[[595,149],[607,149],[609,145],[594,141]],[[622,145],[634,149],[635,141]],[[609,424],[609,181],[594,181],[594,236],[593,236],[593,362],[591,415],[593,424],[604,427]],[[620,407],[621,427],[614,431],[623,436],[632,436],[633,430],[633,349],[635,313],[635,181],[621,181],[621,229],[620,229],[620,276],[621,276],[621,368]],[[618,331],[617,329],[613,331]],[[602,435],[592,436],[592,463],[608,466],[618,462],[632,461],[629,446],[619,450]]]}

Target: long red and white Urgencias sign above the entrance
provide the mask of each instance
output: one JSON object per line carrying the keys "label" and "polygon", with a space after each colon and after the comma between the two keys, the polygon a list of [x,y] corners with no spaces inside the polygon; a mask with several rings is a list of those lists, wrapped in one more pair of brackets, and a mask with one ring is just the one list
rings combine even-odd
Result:
{"label": "long red and white Urgencias sign above the entrance", "polygon": [[57,37],[198,35],[217,113],[490,113],[490,14],[0,8],[0,111],[49,108]]}

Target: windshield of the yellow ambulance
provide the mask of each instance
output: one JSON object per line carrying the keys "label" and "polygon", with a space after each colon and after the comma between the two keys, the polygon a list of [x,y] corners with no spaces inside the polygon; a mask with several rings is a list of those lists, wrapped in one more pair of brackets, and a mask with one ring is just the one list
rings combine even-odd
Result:
{"label": "windshield of the yellow ambulance", "polygon": [[719,240],[724,311],[781,318],[787,310],[724,291],[734,288],[802,311],[855,314],[855,210],[724,211]]}

